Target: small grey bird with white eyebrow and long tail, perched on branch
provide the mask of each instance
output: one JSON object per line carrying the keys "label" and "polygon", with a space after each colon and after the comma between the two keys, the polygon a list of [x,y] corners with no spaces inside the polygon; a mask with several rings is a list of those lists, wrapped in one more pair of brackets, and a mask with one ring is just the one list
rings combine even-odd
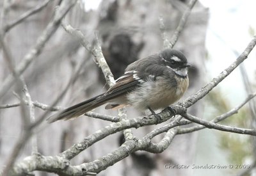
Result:
{"label": "small grey bird with white eyebrow and long tail, perched on branch", "polygon": [[[134,106],[151,113],[179,100],[189,85],[186,56],[176,49],[162,51],[134,61],[105,93],[49,116],[48,123],[69,120],[102,106],[105,109]],[[154,114],[155,115],[155,114]]]}

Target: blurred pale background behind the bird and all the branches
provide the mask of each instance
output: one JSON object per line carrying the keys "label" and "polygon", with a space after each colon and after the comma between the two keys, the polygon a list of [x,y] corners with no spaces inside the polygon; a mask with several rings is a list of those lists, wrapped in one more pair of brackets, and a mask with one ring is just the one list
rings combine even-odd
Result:
{"label": "blurred pale background behind the bird and all the branches", "polygon": [[[10,7],[2,18],[2,25],[17,19],[38,4],[35,0],[3,1],[0,2],[0,12],[6,2]],[[36,39],[52,19],[54,7],[60,3],[57,0],[51,1],[44,10],[6,33],[4,39],[15,58],[15,65],[19,65],[24,55],[35,45]],[[163,18],[167,36],[171,38],[188,3],[188,0],[84,0],[76,4],[65,20],[74,28],[80,29],[90,42],[95,38],[94,32],[99,32],[103,54],[117,78],[129,63],[163,49],[159,17]],[[193,65],[189,70],[190,85],[184,99],[218,76],[244,51],[255,35],[255,5],[253,0],[201,0],[195,4],[174,46],[184,52],[189,63]],[[2,51],[0,54],[0,80],[3,82],[10,70],[3,60]],[[248,94],[256,91],[255,57],[254,50],[241,67],[232,72],[207,97],[189,108],[189,113],[211,120],[241,104]],[[31,99],[51,104],[80,66],[76,80],[58,106],[71,106],[108,88],[100,68],[95,65],[88,51],[62,27],[58,28],[45,45],[42,54],[24,72]],[[16,90],[17,86],[12,86],[0,99],[0,104],[19,102],[12,93]],[[255,100],[252,100],[237,115],[230,116],[221,124],[255,128],[255,107]],[[106,111],[104,108],[97,108],[95,111],[117,115],[117,111]],[[127,112],[128,118],[142,115],[133,108],[127,108]],[[36,117],[42,113],[42,109],[36,108]],[[38,151],[45,156],[54,156],[108,124],[109,122],[83,116],[73,121],[44,125],[43,129],[35,131]],[[161,125],[132,131],[136,137],[142,138]],[[0,168],[10,156],[20,132],[20,108],[0,109]],[[157,142],[161,138],[163,135],[153,140]],[[104,156],[119,147],[122,143],[120,141],[122,132],[113,134],[72,159],[72,164],[90,162]],[[256,175],[255,169],[253,170],[255,147],[256,141],[252,136],[204,129],[176,136],[170,147],[161,154],[135,152],[99,175]],[[28,143],[18,161],[30,154],[31,144]],[[189,168],[166,169],[165,164],[183,164]],[[239,164],[242,168],[193,169],[193,164],[234,164],[234,167]],[[243,164],[250,164],[250,169],[243,169]],[[47,175],[43,172],[36,174]]]}

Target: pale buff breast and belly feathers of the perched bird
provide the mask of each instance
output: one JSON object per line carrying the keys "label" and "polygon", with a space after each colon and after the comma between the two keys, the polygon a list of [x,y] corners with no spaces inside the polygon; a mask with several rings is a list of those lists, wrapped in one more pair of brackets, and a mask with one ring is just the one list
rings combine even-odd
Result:
{"label": "pale buff breast and belly feathers of the perched bird", "polygon": [[159,78],[156,81],[145,81],[143,85],[129,93],[129,103],[138,109],[163,109],[173,104],[184,95],[188,88],[188,77],[175,76],[175,83],[170,79]]}

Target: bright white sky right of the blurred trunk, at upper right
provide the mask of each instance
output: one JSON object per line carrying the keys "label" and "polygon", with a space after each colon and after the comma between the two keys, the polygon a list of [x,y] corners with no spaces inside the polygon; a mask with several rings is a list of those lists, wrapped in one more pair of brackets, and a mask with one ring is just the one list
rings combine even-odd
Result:
{"label": "bright white sky right of the blurred trunk, at upper right", "polygon": [[[241,53],[252,40],[249,29],[256,30],[255,0],[200,0],[209,7],[210,19],[206,37],[206,48],[210,60],[207,62],[209,79],[217,76],[237,56],[232,49]],[[255,34],[254,34],[255,35]],[[256,49],[244,61],[245,68],[252,83],[256,83],[255,65]],[[246,96],[241,83],[239,69],[235,70],[227,80],[221,83],[221,90],[228,99],[238,104]],[[255,88],[254,88],[254,91]],[[237,102],[238,101],[238,102]]]}

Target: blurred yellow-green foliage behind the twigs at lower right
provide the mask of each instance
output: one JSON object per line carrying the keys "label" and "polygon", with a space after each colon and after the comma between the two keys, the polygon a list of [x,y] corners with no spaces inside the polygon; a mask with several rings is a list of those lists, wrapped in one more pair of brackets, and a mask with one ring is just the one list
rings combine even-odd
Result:
{"label": "blurred yellow-green foliage behind the twigs at lower right", "polygon": [[[211,116],[221,115],[234,108],[230,107],[230,102],[222,97],[224,96],[221,95],[221,91],[218,89],[210,92],[209,96],[207,96],[207,103],[214,108],[214,113]],[[236,115],[228,117],[221,124],[248,128],[250,126],[250,113],[248,109],[241,108]],[[253,155],[251,136],[223,131],[218,133],[220,147],[227,151],[230,163],[244,164],[244,160]]]}

